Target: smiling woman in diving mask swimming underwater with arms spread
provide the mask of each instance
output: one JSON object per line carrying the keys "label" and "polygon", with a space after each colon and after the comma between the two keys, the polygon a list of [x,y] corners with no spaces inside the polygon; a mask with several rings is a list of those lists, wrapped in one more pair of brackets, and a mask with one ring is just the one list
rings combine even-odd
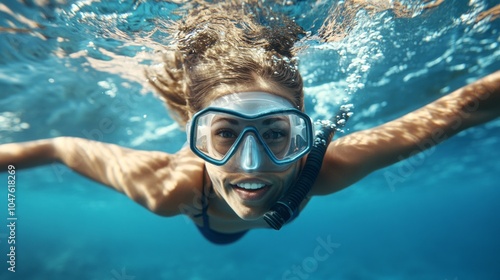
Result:
{"label": "smiling woman in diving mask swimming underwater with arms spread", "polygon": [[[129,196],[150,211],[188,215],[201,233],[228,244],[253,228],[297,180],[312,142],[294,43],[303,34],[284,18],[227,7],[195,9],[177,23],[173,46],[150,83],[189,146],[175,154],[58,137],[0,146],[0,165],[59,161]],[[268,18],[270,19],[270,18]],[[407,114],[328,146],[314,195],[348,187],[369,173],[500,114],[500,72]],[[295,217],[293,217],[295,218]]]}

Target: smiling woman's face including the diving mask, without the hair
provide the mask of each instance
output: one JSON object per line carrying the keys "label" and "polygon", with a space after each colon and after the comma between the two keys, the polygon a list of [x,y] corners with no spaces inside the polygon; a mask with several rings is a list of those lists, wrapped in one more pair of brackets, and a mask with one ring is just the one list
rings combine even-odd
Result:
{"label": "smiling woman's face including the diving mask, without the hair", "polygon": [[215,193],[243,219],[260,218],[297,178],[313,143],[310,118],[266,92],[216,98],[187,126]]}

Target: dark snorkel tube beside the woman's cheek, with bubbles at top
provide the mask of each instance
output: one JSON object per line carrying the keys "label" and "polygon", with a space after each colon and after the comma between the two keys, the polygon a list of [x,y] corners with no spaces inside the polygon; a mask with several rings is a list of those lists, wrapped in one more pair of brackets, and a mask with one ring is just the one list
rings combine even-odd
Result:
{"label": "dark snorkel tube beside the woman's cheek, with bubbles at top", "polygon": [[302,172],[285,196],[283,196],[269,211],[264,214],[264,220],[275,230],[280,230],[299,209],[300,203],[312,188],[318,177],[323,158],[328,145],[332,141],[338,126],[344,126],[350,113],[338,114],[334,121],[321,121],[320,129],[316,132],[313,147],[307,156]]}

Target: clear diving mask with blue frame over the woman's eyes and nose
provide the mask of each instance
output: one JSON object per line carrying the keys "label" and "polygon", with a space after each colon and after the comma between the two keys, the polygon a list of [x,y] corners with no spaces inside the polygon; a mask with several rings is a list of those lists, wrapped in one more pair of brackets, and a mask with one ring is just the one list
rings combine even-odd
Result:
{"label": "clear diving mask with blue frame over the woman's eyes and nose", "polygon": [[222,96],[186,126],[191,150],[205,161],[244,172],[281,171],[313,143],[311,119],[265,92]]}

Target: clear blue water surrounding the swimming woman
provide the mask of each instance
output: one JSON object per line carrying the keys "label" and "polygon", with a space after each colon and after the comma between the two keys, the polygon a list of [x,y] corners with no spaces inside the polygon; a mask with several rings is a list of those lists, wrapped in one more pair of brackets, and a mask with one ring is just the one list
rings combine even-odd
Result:
{"label": "clear blue water surrounding the swimming woman", "polygon": [[[0,27],[17,28],[0,32],[0,143],[69,135],[177,151],[185,135],[142,75],[168,44],[162,26],[178,19],[177,5],[62,2],[0,3]],[[337,2],[276,9],[314,34]],[[499,1],[447,0],[426,11],[421,1],[403,4],[413,17],[360,12],[342,41],[304,42],[308,113],[326,118],[354,105],[337,137],[500,69],[500,19],[476,22]],[[18,171],[15,273],[2,173],[0,279],[500,279],[499,144],[499,120],[469,129],[314,198],[279,232],[254,230],[230,246],[63,166]]]}

